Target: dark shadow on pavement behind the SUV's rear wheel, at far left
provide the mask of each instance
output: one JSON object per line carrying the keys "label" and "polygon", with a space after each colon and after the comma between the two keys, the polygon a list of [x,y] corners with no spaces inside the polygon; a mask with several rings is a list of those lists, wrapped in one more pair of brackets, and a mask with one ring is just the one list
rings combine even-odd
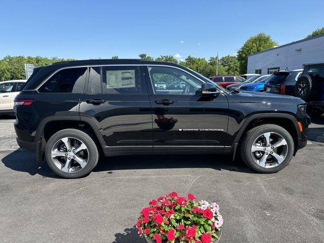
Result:
{"label": "dark shadow on pavement behind the SUV's rear wheel, at far left", "polygon": [[51,171],[46,161],[37,163],[33,153],[21,149],[17,149],[3,157],[2,163],[4,163],[7,168],[14,171],[26,172],[31,176],[38,174],[44,177],[60,178]]}

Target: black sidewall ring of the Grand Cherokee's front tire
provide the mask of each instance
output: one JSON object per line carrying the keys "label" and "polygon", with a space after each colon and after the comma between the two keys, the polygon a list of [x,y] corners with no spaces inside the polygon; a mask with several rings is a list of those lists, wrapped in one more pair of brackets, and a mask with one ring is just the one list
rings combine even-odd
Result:
{"label": "black sidewall ring of the Grand Cherokee's front tire", "polygon": [[[281,135],[282,137],[284,137],[286,139],[287,144],[288,144],[288,152],[287,152],[287,156],[286,156],[285,160],[282,161],[282,163],[280,165],[273,167],[273,168],[263,168],[263,167],[257,165],[252,157],[252,154],[251,154],[251,148],[252,148],[254,141],[258,137],[260,137],[262,134],[268,133],[268,132],[273,132],[273,133],[277,133],[277,134]],[[280,127],[267,127],[267,128],[260,128],[252,134],[252,136],[249,138],[249,140],[246,144],[245,153],[246,153],[246,158],[248,160],[247,161],[248,166],[250,166],[252,169],[254,169],[258,172],[261,172],[261,173],[274,173],[274,172],[280,171],[281,169],[285,168],[289,164],[289,162],[294,154],[294,149],[295,149],[294,140],[287,130],[280,128]]]}

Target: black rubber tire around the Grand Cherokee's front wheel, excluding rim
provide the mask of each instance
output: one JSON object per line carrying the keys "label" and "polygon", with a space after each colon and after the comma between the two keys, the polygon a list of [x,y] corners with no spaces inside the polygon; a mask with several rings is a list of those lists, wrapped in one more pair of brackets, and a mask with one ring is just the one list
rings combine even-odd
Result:
{"label": "black rubber tire around the Grand Cherokee's front wheel, excluding rim", "polygon": [[[276,167],[272,167],[272,168],[264,168],[264,167],[259,166],[253,160],[253,157],[251,154],[251,148],[252,148],[254,141],[262,134],[268,133],[268,132],[277,133],[280,136],[284,137],[285,140],[287,141],[287,145],[288,145],[287,156],[284,159],[284,161],[282,161],[282,163],[277,165]],[[285,168],[289,164],[289,162],[294,154],[294,149],[295,149],[294,140],[293,140],[292,136],[290,135],[290,133],[286,129],[284,129],[278,125],[275,125],[275,124],[265,124],[265,125],[260,125],[258,127],[255,127],[246,133],[245,137],[242,139],[242,142],[241,142],[240,153],[241,153],[241,158],[244,161],[244,163],[246,165],[248,165],[252,170],[254,170],[256,172],[260,172],[260,173],[275,173],[275,172],[278,172],[281,169]]]}

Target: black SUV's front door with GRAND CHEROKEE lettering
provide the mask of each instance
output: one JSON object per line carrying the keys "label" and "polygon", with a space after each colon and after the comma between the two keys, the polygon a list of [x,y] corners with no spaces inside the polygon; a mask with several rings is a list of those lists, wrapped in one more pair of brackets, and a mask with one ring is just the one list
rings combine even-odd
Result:
{"label": "black SUV's front door with GRAND CHEROKEE lettering", "polygon": [[[178,67],[145,68],[153,114],[153,150],[223,150],[227,98],[201,96],[204,81]],[[160,89],[159,82],[169,88]]]}

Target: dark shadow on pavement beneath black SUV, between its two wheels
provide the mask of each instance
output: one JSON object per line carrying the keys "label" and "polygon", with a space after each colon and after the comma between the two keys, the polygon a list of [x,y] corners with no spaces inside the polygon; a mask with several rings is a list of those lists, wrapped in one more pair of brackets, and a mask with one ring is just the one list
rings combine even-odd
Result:
{"label": "dark shadow on pavement beneath black SUV, between its two wheels", "polygon": [[93,171],[177,168],[211,168],[218,171],[255,173],[240,158],[232,161],[230,155],[220,154],[155,154],[105,157],[98,162]]}

